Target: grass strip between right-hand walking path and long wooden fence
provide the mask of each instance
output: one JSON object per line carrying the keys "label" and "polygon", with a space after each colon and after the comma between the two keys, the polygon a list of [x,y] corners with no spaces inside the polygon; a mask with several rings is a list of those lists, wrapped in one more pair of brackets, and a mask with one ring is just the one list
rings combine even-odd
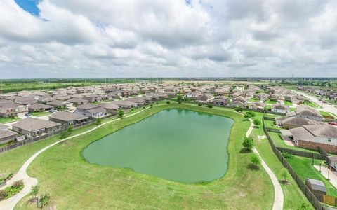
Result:
{"label": "grass strip between right-hand walking path and long wooden fence", "polygon": [[[262,121],[263,113],[256,113],[256,118]],[[281,183],[284,193],[284,209],[298,209],[303,202],[313,209],[312,204],[310,204],[300,188],[298,188],[296,181],[291,178],[290,174],[289,183],[282,183],[282,169],[284,169],[284,167],[272,151],[269,141],[267,139],[258,139],[258,136],[263,136],[264,134],[263,126],[260,125],[259,127],[254,127],[251,136],[255,139],[256,148],[258,149],[261,157],[265,160],[268,167],[272,169],[272,172],[274,172],[275,176],[277,176],[277,179],[279,179]],[[294,199],[295,197],[296,199]]]}

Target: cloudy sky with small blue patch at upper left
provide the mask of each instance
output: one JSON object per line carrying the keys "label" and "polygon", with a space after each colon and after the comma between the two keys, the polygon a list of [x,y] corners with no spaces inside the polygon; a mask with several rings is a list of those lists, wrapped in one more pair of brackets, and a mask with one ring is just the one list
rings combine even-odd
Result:
{"label": "cloudy sky with small blue patch at upper left", "polygon": [[0,78],[337,76],[337,1],[0,0]]}

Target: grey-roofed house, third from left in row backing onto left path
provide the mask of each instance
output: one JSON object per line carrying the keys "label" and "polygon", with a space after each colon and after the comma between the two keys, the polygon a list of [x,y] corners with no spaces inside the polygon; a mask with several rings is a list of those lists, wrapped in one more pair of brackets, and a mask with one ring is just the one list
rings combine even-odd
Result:
{"label": "grey-roofed house, third from left in row backing onto left path", "polygon": [[62,125],[78,125],[86,123],[88,117],[78,113],[57,111],[49,116],[49,120]]}

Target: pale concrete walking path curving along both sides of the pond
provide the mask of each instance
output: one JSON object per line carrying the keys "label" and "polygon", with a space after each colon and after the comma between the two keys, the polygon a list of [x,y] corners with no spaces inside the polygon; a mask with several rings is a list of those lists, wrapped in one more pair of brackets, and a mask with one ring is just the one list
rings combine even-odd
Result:
{"label": "pale concrete walking path curving along both sides of the pond", "polygon": [[[149,108],[147,108],[149,109]],[[140,110],[136,113],[132,113],[131,115],[126,116],[125,118],[131,117],[133,115],[136,115],[137,113],[140,113],[144,111]],[[93,130],[98,129],[98,127],[101,127],[103,125],[106,125],[107,123],[112,123],[114,121],[120,120],[120,118],[114,119],[114,120],[110,120],[107,121],[105,123],[102,123],[101,125],[98,125],[94,128],[92,128],[91,130],[87,130],[86,132],[82,132],[80,134],[76,134],[72,137],[67,137],[65,139],[61,139],[60,141],[56,141],[53,144],[50,144],[48,146],[46,146],[45,148],[42,148],[40,151],[37,151],[37,153],[34,153],[34,155],[32,155],[20,168],[19,172],[17,174],[15,174],[15,176],[13,176],[13,178],[8,181],[6,183],[6,186],[3,186],[0,188],[4,189],[8,186],[11,186],[12,183],[14,181],[18,181],[20,179],[23,180],[23,182],[25,183],[25,187],[20,191],[20,193],[14,195],[13,197],[10,197],[6,200],[2,200],[0,201],[0,210],[8,210],[8,209],[14,209],[15,205],[18,204],[18,202],[20,202],[20,200],[22,200],[23,197],[25,197],[26,195],[29,194],[30,190],[32,189],[32,187],[37,185],[37,179],[35,179],[34,177],[30,177],[27,174],[27,168],[29,167],[29,165],[32,163],[32,161],[37,158],[37,156],[41,153],[43,153],[44,151],[46,151],[48,148],[51,148],[52,146],[54,146],[55,144],[59,144],[62,141],[66,141],[68,139],[72,139],[74,137],[79,137],[83,134],[87,134],[88,132],[92,132]],[[251,121],[251,125],[249,127],[249,130],[247,130],[246,132],[246,137],[249,137],[249,135],[251,134],[251,132],[253,131],[253,123]],[[272,206],[272,210],[282,210],[283,209],[283,202],[284,202],[284,197],[283,197],[283,191],[281,186],[279,185],[279,180],[277,179],[277,177],[275,176],[275,174],[272,172],[272,170],[267,166],[267,164],[265,163],[265,161],[261,158],[260,154],[258,153],[258,151],[256,150],[256,148],[253,148],[253,152],[256,153],[256,155],[258,155],[258,157],[260,157],[261,159],[261,165],[263,166],[263,168],[266,170],[267,174],[269,174],[270,179],[272,180],[272,184],[274,186],[275,189],[275,198],[274,198],[274,204]]]}

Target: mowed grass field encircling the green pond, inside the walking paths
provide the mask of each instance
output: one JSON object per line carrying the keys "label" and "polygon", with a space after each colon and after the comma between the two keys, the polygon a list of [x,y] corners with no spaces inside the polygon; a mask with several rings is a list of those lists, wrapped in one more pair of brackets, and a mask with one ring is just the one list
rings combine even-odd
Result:
{"label": "mowed grass field encircling the green pond, inside the walking paths", "polygon": [[[223,178],[188,185],[138,174],[131,169],[91,165],[81,157],[83,148],[92,141],[167,108],[213,113],[235,121],[228,144],[229,168]],[[28,174],[38,179],[42,193],[50,193],[52,205],[57,209],[272,209],[274,188],[269,176],[263,168],[249,169],[251,154],[242,152],[242,140],[249,124],[241,114],[226,109],[187,104],[154,106],[53,146],[32,162]],[[20,161],[12,161],[15,166],[8,165],[15,172],[22,160],[29,157],[26,154],[29,147],[32,147],[30,155],[38,148],[32,144],[23,147],[27,150],[19,148],[6,155],[4,153],[0,155],[0,162],[10,157],[17,158],[11,153],[18,156],[25,153],[25,158],[18,157]],[[28,197],[22,200],[16,209],[35,209],[35,205],[27,203],[27,200]]]}

